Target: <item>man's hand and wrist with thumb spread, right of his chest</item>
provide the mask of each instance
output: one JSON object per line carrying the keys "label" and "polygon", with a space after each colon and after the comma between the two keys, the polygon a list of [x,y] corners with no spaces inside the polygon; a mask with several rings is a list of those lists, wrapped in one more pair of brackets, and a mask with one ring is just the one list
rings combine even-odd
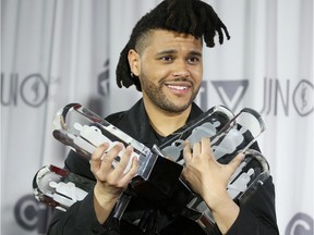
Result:
{"label": "man's hand and wrist with thumb spread, right of his chest", "polygon": [[228,164],[220,164],[214,158],[209,138],[194,144],[193,150],[189,141],[184,146],[185,168],[182,175],[207,203],[222,234],[228,232],[240,211],[228,195],[227,185],[243,157],[244,154],[240,153]]}

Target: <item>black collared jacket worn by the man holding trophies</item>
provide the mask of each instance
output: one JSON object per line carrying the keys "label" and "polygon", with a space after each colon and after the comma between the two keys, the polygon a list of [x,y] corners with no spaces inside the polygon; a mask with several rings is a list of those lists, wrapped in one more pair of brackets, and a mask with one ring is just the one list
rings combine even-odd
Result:
{"label": "black collared jacket worn by the man holding trophies", "polygon": [[[189,121],[196,119],[203,111],[193,103]],[[148,122],[143,100],[137,101],[130,110],[106,118],[108,122],[132,136],[134,139],[152,147],[162,143]],[[89,170],[89,162],[74,151],[65,160],[65,169],[95,180]],[[67,212],[55,210],[48,234],[205,234],[201,226],[185,217],[172,217],[154,205],[133,198],[120,222],[110,217],[105,224],[99,224],[94,211],[93,190],[83,201],[74,203]],[[275,188],[271,177],[261,187],[245,205],[240,206],[240,214],[229,230],[229,235],[278,234],[275,212]],[[131,224],[134,219],[146,217],[146,232]],[[210,234],[221,234],[217,226]]]}

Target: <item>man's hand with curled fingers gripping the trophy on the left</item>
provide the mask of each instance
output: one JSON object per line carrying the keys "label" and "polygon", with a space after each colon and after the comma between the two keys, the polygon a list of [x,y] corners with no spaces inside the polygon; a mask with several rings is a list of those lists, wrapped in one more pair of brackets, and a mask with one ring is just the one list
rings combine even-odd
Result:
{"label": "man's hand with curled fingers gripping the trophy on the left", "polygon": [[94,188],[94,207],[100,223],[107,220],[120,195],[126,189],[129,182],[138,171],[137,158],[133,158],[130,170],[124,172],[132,157],[132,146],[126,147],[121,161],[116,164],[116,168],[112,166],[112,163],[123,149],[123,145],[120,143],[107,152],[109,144],[107,143],[100,145],[90,159],[90,171],[97,180]]}

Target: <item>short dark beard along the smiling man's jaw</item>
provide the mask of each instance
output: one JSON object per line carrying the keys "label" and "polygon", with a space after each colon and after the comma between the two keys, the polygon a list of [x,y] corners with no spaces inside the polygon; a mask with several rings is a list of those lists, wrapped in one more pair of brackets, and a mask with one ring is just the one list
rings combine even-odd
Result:
{"label": "short dark beard along the smiling man's jaw", "polygon": [[[184,81],[184,78],[180,78],[177,81]],[[146,96],[150,99],[150,101],[158,107],[159,109],[167,111],[167,112],[183,112],[184,110],[186,110],[191,103],[193,102],[193,100],[195,99],[200,87],[197,87],[197,89],[194,89],[194,85],[192,86],[192,96],[190,97],[190,99],[179,106],[176,104],[176,102],[173,102],[171,99],[169,99],[166,94],[162,91],[162,86],[164,83],[161,82],[159,86],[156,86],[154,83],[152,83],[150,81],[148,81],[145,76],[142,76],[141,79],[141,86],[142,86],[142,91],[146,94]]]}

